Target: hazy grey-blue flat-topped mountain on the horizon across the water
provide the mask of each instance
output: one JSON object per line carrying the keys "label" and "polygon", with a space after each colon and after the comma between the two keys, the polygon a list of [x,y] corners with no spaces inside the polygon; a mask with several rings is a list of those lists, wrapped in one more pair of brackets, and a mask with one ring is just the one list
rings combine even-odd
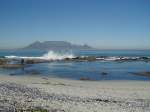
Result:
{"label": "hazy grey-blue flat-topped mountain on the horizon across the water", "polygon": [[75,45],[66,41],[45,41],[39,42],[36,41],[27,47],[24,47],[25,50],[92,50],[94,48],[88,45]]}

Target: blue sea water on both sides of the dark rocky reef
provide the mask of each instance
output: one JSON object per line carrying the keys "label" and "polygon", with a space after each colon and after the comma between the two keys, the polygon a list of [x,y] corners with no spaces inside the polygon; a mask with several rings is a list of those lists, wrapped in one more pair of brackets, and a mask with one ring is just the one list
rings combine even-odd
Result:
{"label": "blue sea water on both sides of the dark rocky reef", "polygon": [[[85,50],[85,51],[21,51],[3,50],[0,56],[8,57],[50,57],[53,61],[27,65],[19,69],[0,68],[0,74],[59,77],[79,80],[86,77],[91,80],[150,80],[150,77],[133,73],[150,71],[150,61],[64,61],[65,56],[108,56],[108,57],[150,57],[150,50]],[[103,74],[107,73],[107,74]]]}

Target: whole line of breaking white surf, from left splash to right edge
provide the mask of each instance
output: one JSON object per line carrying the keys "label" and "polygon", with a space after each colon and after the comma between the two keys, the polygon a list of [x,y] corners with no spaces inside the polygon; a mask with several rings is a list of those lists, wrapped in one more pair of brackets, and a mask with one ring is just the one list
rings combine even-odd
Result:
{"label": "whole line of breaking white surf, from left splash to right edge", "polygon": [[54,52],[49,51],[39,57],[32,56],[5,56],[9,59],[41,59],[41,60],[99,60],[99,61],[150,61],[150,57],[134,57],[134,56],[75,56],[72,52]]}

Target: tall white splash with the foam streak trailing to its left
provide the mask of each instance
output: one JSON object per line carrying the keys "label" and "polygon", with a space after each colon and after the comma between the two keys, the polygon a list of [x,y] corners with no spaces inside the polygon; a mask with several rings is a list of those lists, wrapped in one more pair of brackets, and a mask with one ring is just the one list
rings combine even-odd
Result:
{"label": "tall white splash with the foam streak trailing to its left", "polygon": [[30,56],[5,56],[9,59],[43,59],[43,60],[63,60],[65,58],[74,58],[75,56],[72,53],[60,53],[49,51],[48,53],[40,57],[30,57]]}

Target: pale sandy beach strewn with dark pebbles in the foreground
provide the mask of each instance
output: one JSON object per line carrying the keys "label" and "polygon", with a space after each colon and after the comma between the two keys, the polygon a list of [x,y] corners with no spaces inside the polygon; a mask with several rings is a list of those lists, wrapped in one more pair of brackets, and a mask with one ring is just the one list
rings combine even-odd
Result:
{"label": "pale sandy beach strewn with dark pebbles in the foreground", "polygon": [[149,112],[149,81],[0,76],[0,111]]}

